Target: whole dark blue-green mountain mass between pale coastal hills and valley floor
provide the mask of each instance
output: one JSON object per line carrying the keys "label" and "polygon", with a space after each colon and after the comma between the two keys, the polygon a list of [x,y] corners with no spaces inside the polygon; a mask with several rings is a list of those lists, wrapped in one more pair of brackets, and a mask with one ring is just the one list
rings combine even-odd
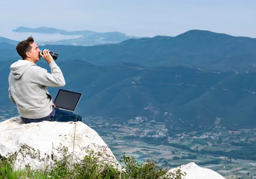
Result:
{"label": "whole dark blue-green mountain mass between pale coastal hills and valley floor", "polygon": [[[7,79],[10,64],[20,59],[6,40],[0,45],[1,109],[12,106]],[[117,44],[40,47],[59,54],[64,89],[83,93],[83,116],[117,123],[146,116],[164,121],[169,131],[256,127],[256,39],[192,30]],[[49,71],[43,59],[37,65]],[[49,91],[55,96],[58,88]]]}

